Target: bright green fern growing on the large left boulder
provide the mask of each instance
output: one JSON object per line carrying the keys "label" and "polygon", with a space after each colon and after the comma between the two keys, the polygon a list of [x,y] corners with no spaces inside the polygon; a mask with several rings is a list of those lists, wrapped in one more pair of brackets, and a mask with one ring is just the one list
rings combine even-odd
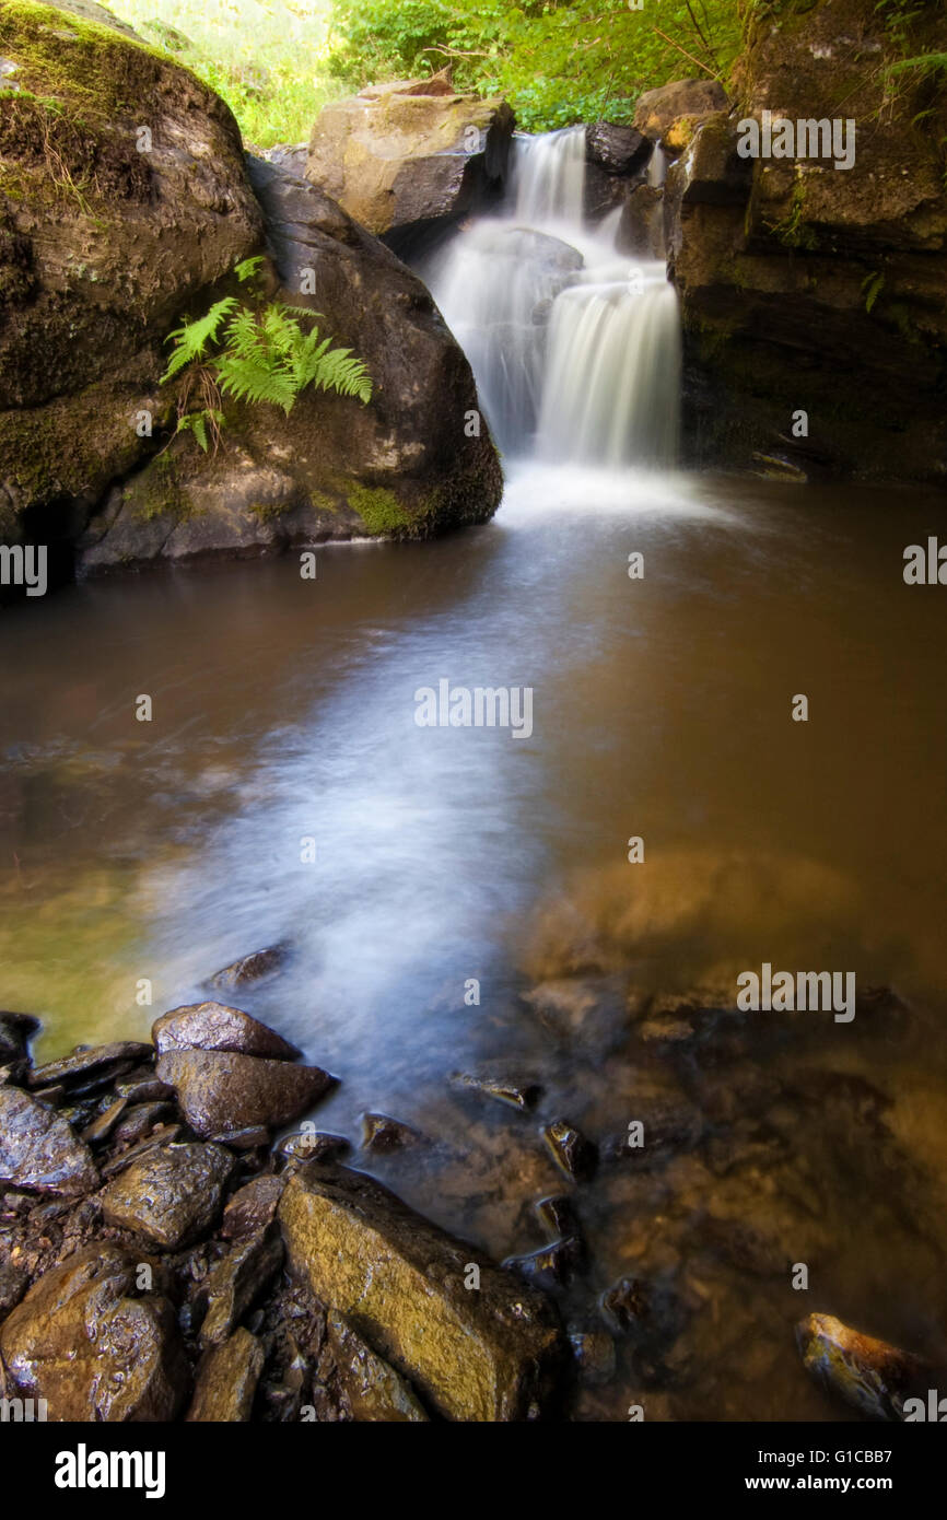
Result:
{"label": "bright green fern growing on the large left boulder", "polygon": [[[246,258],[237,264],[237,280],[252,280],[260,263]],[[176,432],[190,432],[204,453],[211,445],[216,451],[225,426],[223,397],[280,406],[287,416],[307,386],[368,403],[372,385],[365,363],[351,348],[333,348],[316,325],[306,331],[299,318],[313,315],[278,301],[246,304],[223,296],[204,316],[182,321],[169,334],[175,347],[161,375],[161,385],[184,377]]]}

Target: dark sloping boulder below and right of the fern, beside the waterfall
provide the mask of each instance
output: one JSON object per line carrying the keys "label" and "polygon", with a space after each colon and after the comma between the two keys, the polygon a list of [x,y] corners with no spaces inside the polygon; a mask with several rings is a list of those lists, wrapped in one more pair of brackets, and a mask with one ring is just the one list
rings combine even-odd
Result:
{"label": "dark sloping boulder below and right of the fern, beside the waterfall", "polygon": [[[365,359],[369,406],[306,391],[292,415],[226,406],[216,454],[181,438],[93,518],[81,572],[213,555],[257,558],[327,540],[427,538],[480,523],[502,494],[464,353],[395,255],[292,167],[249,158],[281,296]],[[471,426],[470,420],[474,418]]]}

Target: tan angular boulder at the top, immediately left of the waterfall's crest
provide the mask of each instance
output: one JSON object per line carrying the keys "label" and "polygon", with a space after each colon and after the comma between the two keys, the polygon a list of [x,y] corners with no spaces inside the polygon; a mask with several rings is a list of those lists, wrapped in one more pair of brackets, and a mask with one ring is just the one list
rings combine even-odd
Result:
{"label": "tan angular boulder at the top, immediately left of the waterfall's crest", "polygon": [[324,108],[306,176],[403,251],[499,185],[512,129],[505,100],[454,94],[445,73],[369,85]]}

